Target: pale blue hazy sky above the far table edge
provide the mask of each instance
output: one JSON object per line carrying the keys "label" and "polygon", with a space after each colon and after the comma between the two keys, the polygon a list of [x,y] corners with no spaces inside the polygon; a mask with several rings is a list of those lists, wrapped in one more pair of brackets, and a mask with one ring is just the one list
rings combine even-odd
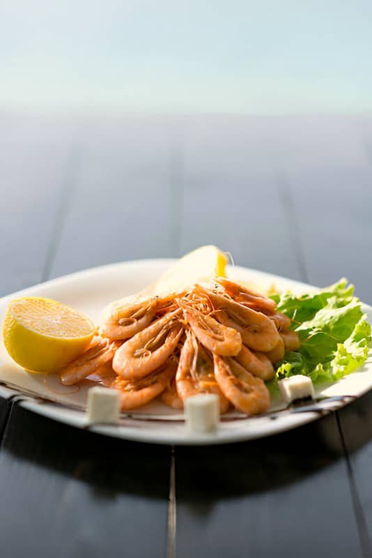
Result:
{"label": "pale blue hazy sky above the far table edge", "polygon": [[371,1],[2,0],[0,109],[372,110]]}

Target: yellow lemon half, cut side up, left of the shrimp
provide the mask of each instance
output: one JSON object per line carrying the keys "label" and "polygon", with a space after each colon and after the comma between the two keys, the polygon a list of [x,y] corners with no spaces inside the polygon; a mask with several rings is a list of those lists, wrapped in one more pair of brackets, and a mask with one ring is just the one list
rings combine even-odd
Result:
{"label": "yellow lemon half, cut side up, left of the shrimp", "polygon": [[95,326],[91,319],[64,304],[40,296],[10,303],[3,341],[12,359],[32,372],[56,372],[88,346]]}

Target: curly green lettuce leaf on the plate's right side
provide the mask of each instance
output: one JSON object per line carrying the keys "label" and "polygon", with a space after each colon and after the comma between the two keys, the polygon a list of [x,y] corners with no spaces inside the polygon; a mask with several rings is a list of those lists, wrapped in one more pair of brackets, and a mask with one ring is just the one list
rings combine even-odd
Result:
{"label": "curly green lettuce leaf on the plate's right side", "polygon": [[335,381],[353,372],[369,353],[371,326],[346,279],[316,294],[273,294],[277,310],[292,320],[301,347],[286,352],[277,363],[276,377],[295,374]]}

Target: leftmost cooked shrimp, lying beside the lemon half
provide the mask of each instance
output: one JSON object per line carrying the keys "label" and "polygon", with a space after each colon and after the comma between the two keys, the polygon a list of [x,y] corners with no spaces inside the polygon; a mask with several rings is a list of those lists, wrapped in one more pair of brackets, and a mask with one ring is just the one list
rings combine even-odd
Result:
{"label": "leftmost cooked shrimp, lying beside the lemon half", "polygon": [[81,382],[91,374],[102,371],[107,363],[112,362],[120,345],[120,342],[110,342],[109,339],[95,336],[88,349],[61,372],[62,384],[71,386]]}

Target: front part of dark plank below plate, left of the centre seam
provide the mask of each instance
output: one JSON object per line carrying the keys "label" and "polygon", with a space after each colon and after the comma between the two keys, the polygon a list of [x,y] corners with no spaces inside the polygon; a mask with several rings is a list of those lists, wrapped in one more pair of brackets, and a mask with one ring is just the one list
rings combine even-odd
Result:
{"label": "front part of dark plank below plate, left of the centre seam", "polygon": [[164,557],[169,448],[14,405],[0,452],[1,556]]}

